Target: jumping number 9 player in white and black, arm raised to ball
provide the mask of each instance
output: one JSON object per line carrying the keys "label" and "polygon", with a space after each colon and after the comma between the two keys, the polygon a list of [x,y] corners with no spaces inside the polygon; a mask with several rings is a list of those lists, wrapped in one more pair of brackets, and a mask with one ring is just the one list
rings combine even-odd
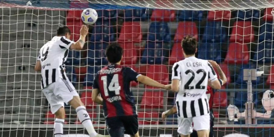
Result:
{"label": "jumping number 9 player in white and black, arm raised to ball", "polygon": [[77,116],[90,137],[104,136],[95,132],[84,104],[65,73],[65,61],[68,56],[68,50],[81,50],[87,33],[88,27],[82,25],[79,40],[73,42],[69,40],[70,30],[68,27],[59,26],[56,30],[56,36],[41,47],[37,57],[34,69],[35,71],[41,71],[42,92],[51,105],[51,112],[55,114],[54,137],[63,135],[63,124],[65,122],[64,102],[76,109]]}

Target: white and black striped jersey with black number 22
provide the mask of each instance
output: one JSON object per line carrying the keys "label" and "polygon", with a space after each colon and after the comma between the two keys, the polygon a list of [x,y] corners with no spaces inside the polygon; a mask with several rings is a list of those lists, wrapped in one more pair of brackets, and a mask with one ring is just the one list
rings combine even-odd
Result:
{"label": "white and black striped jersey with black number 22", "polygon": [[190,118],[209,113],[206,96],[208,80],[215,81],[217,75],[207,60],[194,56],[176,62],[172,68],[172,78],[179,79],[180,87],[176,97],[179,117]]}

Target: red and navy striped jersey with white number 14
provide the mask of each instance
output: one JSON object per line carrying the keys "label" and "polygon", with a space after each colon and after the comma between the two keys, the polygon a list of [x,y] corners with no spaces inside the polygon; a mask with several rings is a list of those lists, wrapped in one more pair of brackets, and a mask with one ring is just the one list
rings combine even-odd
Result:
{"label": "red and navy striped jersey with white number 14", "polygon": [[130,82],[137,81],[132,68],[111,64],[97,72],[93,89],[99,89],[103,98],[105,118],[136,115],[136,107],[129,90]]}

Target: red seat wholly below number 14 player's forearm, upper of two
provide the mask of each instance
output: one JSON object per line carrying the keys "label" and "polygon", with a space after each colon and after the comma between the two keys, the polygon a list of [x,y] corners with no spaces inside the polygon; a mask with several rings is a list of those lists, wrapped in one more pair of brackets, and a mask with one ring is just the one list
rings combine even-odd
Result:
{"label": "red seat wholly below number 14 player's forearm, upper of two", "polygon": [[163,108],[162,91],[145,91],[141,101],[141,108]]}

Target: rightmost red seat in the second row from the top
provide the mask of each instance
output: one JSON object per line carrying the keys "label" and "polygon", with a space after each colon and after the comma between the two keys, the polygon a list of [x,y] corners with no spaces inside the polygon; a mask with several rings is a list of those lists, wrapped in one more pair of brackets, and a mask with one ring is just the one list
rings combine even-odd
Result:
{"label": "rightmost red seat in the second row from the top", "polygon": [[254,41],[254,30],[251,21],[235,22],[229,41],[239,43],[250,43]]}

